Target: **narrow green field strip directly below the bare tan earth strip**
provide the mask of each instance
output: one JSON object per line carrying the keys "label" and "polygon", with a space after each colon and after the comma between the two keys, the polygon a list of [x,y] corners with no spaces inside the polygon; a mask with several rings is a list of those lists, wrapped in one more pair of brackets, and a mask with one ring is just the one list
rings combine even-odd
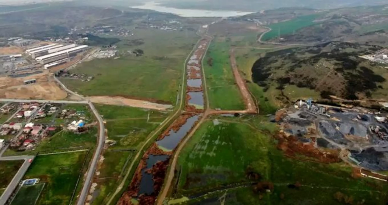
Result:
{"label": "narrow green field strip directly below the bare tan earth strip", "polygon": [[94,105],[98,110],[100,115],[104,116],[106,120],[119,120],[119,119],[136,119],[144,118],[147,119],[148,116],[152,121],[158,121],[160,119],[166,118],[168,112],[158,112],[156,110],[146,110],[136,107],[127,107],[127,106],[114,106],[114,105]]}

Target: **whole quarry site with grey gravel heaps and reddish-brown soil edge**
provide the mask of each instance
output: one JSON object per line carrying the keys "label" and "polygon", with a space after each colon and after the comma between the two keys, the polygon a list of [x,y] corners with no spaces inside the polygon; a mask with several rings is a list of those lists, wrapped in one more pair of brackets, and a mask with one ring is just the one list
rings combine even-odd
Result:
{"label": "whole quarry site with grey gravel heaps and reddish-brown soil edge", "polygon": [[[272,121],[281,127],[276,138],[286,155],[304,153],[324,163],[345,161],[365,168],[360,169],[361,174],[388,170],[387,114],[322,105],[310,99],[279,110]],[[387,177],[380,179],[386,181]]]}

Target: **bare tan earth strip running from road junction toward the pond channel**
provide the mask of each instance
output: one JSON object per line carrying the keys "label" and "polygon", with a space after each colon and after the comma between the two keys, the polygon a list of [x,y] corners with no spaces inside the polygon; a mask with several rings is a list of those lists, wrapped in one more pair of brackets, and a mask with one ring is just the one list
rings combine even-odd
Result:
{"label": "bare tan earth strip running from road junction toward the pond channel", "polygon": [[130,98],[124,98],[121,96],[89,96],[87,97],[93,103],[105,104],[105,105],[121,105],[130,107],[140,107],[153,110],[167,110],[172,105],[163,105],[158,103],[149,102],[146,100],[134,100]]}

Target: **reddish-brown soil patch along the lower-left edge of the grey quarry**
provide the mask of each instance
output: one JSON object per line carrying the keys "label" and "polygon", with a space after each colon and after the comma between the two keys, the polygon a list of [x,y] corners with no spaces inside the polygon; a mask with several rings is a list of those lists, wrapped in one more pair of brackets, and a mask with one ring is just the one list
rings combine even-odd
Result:
{"label": "reddish-brown soil patch along the lower-left edge of the grey quarry", "polygon": [[341,162],[338,150],[321,150],[314,146],[315,138],[312,138],[310,143],[302,143],[294,136],[287,136],[284,132],[279,132],[275,135],[275,139],[278,140],[277,148],[282,150],[284,154],[288,156],[295,156],[296,153],[305,155],[316,159],[322,163],[336,163]]}

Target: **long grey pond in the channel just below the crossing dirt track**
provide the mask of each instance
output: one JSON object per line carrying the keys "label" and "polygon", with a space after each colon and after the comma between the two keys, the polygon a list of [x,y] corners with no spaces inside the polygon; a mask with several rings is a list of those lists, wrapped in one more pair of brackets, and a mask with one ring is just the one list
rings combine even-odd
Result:
{"label": "long grey pond in the channel just below the crossing dirt track", "polygon": [[172,129],[170,130],[170,135],[163,138],[163,140],[156,141],[156,143],[168,150],[173,150],[175,147],[178,146],[180,140],[186,136],[187,133],[189,133],[191,127],[194,125],[194,123],[198,120],[198,115],[194,115],[187,119],[187,122],[180,127],[180,129],[177,132],[174,132]]}

